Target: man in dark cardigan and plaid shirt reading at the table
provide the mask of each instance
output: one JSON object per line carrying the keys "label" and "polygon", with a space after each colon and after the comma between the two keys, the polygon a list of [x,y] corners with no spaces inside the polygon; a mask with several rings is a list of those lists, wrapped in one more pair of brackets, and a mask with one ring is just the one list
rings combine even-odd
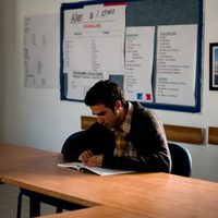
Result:
{"label": "man in dark cardigan and plaid shirt reading at the table", "polygon": [[65,141],[65,160],[141,172],[170,172],[166,133],[154,111],[126,101],[122,88],[110,81],[97,82],[84,101],[97,122]]}

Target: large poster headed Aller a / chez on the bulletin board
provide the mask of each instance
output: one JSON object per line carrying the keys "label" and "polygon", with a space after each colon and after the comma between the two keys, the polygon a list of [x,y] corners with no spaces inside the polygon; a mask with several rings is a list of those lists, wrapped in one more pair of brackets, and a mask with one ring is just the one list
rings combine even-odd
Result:
{"label": "large poster headed Aller a / chez on the bulletin board", "polygon": [[66,98],[83,100],[97,81],[123,74],[125,4],[64,11],[63,73]]}

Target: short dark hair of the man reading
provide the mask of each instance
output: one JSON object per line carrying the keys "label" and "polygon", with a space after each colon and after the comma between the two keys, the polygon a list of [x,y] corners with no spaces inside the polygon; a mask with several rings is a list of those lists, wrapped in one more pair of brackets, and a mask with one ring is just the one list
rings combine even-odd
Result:
{"label": "short dark hair of the man reading", "polygon": [[86,93],[85,105],[96,106],[105,105],[107,108],[114,110],[116,101],[120,100],[122,106],[126,106],[122,88],[110,81],[99,81]]}

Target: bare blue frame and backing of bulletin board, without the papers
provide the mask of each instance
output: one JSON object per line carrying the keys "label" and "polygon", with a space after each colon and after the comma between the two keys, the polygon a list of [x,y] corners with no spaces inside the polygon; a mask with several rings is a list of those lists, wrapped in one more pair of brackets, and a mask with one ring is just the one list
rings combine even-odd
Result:
{"label": "bare blue frame and backing of bulletin board, without the papers", "polygon": [[[202,86],[202,41],[203,41],[203,0],[96,0],[84,1],[75,3],[62,3],[61,5],[61,45],[60,45],[60,84],[61,84],[61,99],[69,99],[68,96],[68,76],[63,72],[64,53],[63,53],[63,33],[64,33],[64,12],[71,9],[80,9],[87,4],[99,3],[114,3],[126,2],[125,11],[125,25],[126,26],[155,26],[155,53],[153,65],[152,86],[154,99],[153,102],[142,102],[142,105],[164,110],[174,110],[184,112],[201,112],[201,86]],[[155,98],[156,84],[155,78],[157,74],[156,69],[156,45],[157,45],[157,26],[160,25],[183,25],[196,24],[197,25],[197,50],[196,50],[196,81],[194,87],[195,104],[187,105],[173,105],[173,104],[158,104]],[[185,33],[184,33],[185,34]],[[119,76],[118,82],[123,82]]]}

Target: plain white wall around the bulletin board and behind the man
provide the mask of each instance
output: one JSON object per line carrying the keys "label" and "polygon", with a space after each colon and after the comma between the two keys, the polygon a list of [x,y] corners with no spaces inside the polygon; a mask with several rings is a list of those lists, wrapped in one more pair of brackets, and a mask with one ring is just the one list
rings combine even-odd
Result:
{"label": "plain white wall around the bulletin board and behind the man", "polygon": [[[90,114],[82,102],[61,101],[59,89],[24,87],[23,19],[58,12],[58,0],[1,0],[0,141],[60,152],[64,140],[80,130],[80,117]],[[218,181],[218,146],[207,144],[207,129],[218,126],[218,92],[210,92],[209,43],[218,41],[218,1],[205,0],[203,107],[201,113],[156,110],[164,123],[201,126],[203,145],[185,145],[193,157],[193,177]],[[2,121],[2,122],[1,122]]]}

